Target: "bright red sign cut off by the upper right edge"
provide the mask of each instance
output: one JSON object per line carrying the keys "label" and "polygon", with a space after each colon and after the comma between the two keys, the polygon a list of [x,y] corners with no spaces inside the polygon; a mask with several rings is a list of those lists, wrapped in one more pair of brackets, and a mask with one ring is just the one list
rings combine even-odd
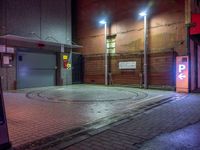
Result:
{"label": "bright red sign cut off by the upper right edge", "polygon": [[200,34],[200,14],[192,14],[192,24],[193,26],[190,29],[190,34]]}

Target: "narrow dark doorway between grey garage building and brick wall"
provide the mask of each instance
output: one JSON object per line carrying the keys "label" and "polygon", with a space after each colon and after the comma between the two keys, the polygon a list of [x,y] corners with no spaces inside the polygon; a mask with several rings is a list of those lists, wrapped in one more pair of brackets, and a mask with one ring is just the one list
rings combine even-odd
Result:
{"label": "narrow dark doorway between grey garage building and brick wall", "polygon": [[79,53],[72,53],[72,83],[83,83],[83,56]]}

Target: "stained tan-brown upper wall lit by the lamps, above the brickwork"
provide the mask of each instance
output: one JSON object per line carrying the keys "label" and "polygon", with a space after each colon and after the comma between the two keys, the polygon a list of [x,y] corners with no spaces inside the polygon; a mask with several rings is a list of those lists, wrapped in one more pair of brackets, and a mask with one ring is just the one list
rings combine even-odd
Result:
{"label": "stained tan-brown upper wall lit by the lamps, above the brickwork", "polygon": [[108,34],[116,35],[116,53],[143,50],[143,18],[138,13],[149,8],[148,48],[163,52],[173,48],[182,55],[185,51],[185,6],[183,0],[77,0],[76,41],[83,45],[83,54],[104,51],[104,27],[98,22],[108,18]]}

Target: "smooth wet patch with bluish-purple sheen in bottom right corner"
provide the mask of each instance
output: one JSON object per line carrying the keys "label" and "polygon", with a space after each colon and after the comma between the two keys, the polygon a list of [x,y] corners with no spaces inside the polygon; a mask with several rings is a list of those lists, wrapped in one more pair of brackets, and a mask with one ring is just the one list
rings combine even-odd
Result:
{"label": "smooth wet patch with bluish-purple sheen in bottom right corner", "polygon": [[143,150],[200,150],[200,122],[160,135],[146,142]]}

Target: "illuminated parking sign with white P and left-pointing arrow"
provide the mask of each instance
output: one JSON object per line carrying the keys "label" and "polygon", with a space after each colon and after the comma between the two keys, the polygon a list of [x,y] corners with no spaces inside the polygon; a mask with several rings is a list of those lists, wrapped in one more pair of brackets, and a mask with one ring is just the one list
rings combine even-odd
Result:
{"label": "illuminated parking sign with white P and left-pointing arrow", "polygon": [[188,93],[188,56],[176,57],[176,92]]}

